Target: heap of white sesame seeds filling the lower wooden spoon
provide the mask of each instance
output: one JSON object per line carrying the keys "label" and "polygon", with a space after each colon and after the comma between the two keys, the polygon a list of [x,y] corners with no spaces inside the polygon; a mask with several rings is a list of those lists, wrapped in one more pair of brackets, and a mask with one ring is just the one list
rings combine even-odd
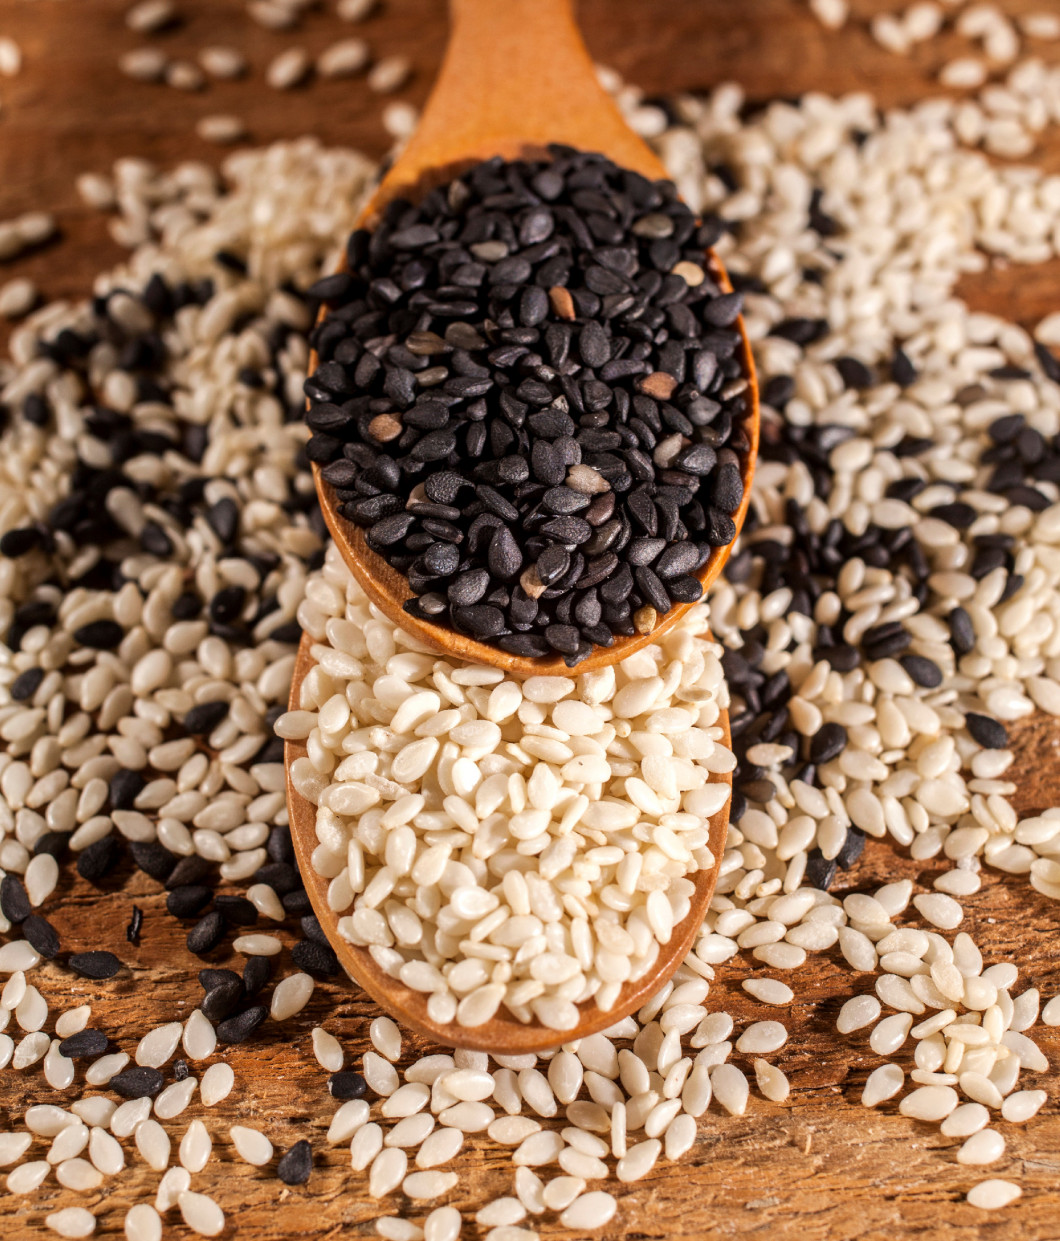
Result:
{"label": "heap of white sesame seeds filling the lower wooden spoon", "polygon": [[395,630],[331,547],[299,622],[315,664],[276,731],[308,748],[339,934],[439,1025],[613,1010],[716,861],[735,758],[706,609],[617,668],[519,681]]}

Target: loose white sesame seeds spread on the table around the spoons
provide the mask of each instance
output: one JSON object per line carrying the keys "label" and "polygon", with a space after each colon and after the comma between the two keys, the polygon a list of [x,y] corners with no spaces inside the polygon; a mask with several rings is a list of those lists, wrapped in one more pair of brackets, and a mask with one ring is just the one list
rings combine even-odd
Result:
{"label": "loose white sesame seeds spread on the table around the spoons", "polygon": [[[624,89],[622,99],[633,122],[653,135],[689,201],[732,222],[722,257],[747,289],[746,321],[763,391],[767,397],[784,392],[763,411],[766,442],[779,447],[767,449],[758,468],[756,516],[743,540],[746,572],[719,583],[710,617],[715,635],[730,652],[745,652],[755,675],[784,674],[789,696],[782,732],[794,733],[796,745],[758,740],[747,747],[746,762],[761,774],[741,792],[703,934],[674,980],[636,1018],[550,1056],[490,1060],[478,1052],[432,1051],[415,1062],[402,1061],[392,1023],[374,1023],[372,1049],[360,1064],[370,1096],[343,1103],[328,1140],[349,1145],[356,1184],[371,1196],[403,1193],[398,1214],[377,1221],[380,1235],[393,1241],[452,1241],[459,1235],[459,1214],[432,1204],[456,1186],[459,1163],[456,1172],[448,1165],[458,1160],[467,1136],[485,1133],[510,1147],[515,1167],[511,1196],[482,1204],[477,1222],[490,1230],[490,1241],[530,1241],[532,1220],[552,1212],[571,1229],[604,1226],[621,1203],[593,1186],[614,1188],[612,1176],[619,1185],[632,1183],[662,1157],[679,1159],[700,1128],[710,1126],[712,1104],[732,1114],[748,1108],[748,1078],[765,1100],[783,1104],[789,1090],[782,1069],[787,1029],[776,1014],[794,1001],[798,970],[809,953],[830,953],[850,968],[837,1056],[847,1055],[853,1039],[880,1059],[863,1102],[938,1124],[961,1164],[973,1169],[1002,1159],[1004,1126],[1030,1122],[1048,1100],[1039,1087],[1050,1081],[1040,1076],[1049,1066],[1030,1031],[1039,1018],[1060,1024],[1060,999],[1040,1006],[1034,987],[1019,990],[1015,963],[984,962],[959,927],[961,902],[974,900],[984,865],[1026,875],[1039,892],[1060,896],[1060,812],[1046,808],[1020,820],[1010,804],[1015,787],[1005,779],[1013,753],[1004,743],[984,747],[967,724],[969,715],[1009,724],[1035,710],[1060,714],[1060,491],[1048,475],[1031,470],[1038,500],[1019,490],[1029,488],[1023,477],[1010,495],[999,494],[989,485],[993,462],[982,460],[984,450],[1008,442],[989,432],[1012,414],[1022,417],[1018,432],[1035,433],[1028,437],[1035,453],[1040,447],[1048,455],[1060,432],[1060,387],[1043,371],[1048,359],[1023,329],[971,313],[954,287],[964,273],[982,269],[984,252],[1028,263],[1053,257],[1060,182],[1031,169],[995,169],[968,150],[959,128],[963,105],[948,101],[881,118],[865,96],[814,96],[748,117],[739,89],[725,87],[709,99],[675,101],[679,119],[670,123],[636,92]],[[160,818],[161,807],[220,779],[216,788],[206,783],[211,795],[227,781],[240,807],[254,804],[266,827],[285,823],[282,799],[259,800],[278,787],[277,763],[256,766],[249,750],[233,750],[216,772],[194,753],[165,769],[173,756],[160,751],[160,721],[166,711],[187,710],[202,686],[197,701],[223,686],[231,700],[246,701],[247,714],[242,706],[235,712],[238,726],[222,738],[222,748],[238,747],[249,733],[256,753],[268,707],[284,699],[292,648],[279,642],[269,647],[268,634],[294,616],[307,591],[305,561],[317,546],[304,517],[292,516],[287,504],[308,480],[289,464],[302,431],[283,422],[269,403],[277,401],[272,392],[246,392],[238,374],[247,366],[276,367],[278,387],[297,402],[308,323],[283,285],[308,285],[320,264],[331,261],[371,168],[305,141],[245,153],[228,170],[235,180],[228,194],[220,194],[201,168],[161,174],[138,161],[123,161],[113,177],[86,186],[93,201],[118,208],[117,236],[135,247],[123,271],[101,277],[97,293],[119,287],[139,292],[156,271],[174,282],[207,273],[216,282],[205,304],[185,307],[170,329],[170,377],[179,390],[174,408],[130,388],[113,350],[93,357],[93,377],[107,403],[144,429],[207,428],[204,468],[216,475],[216,499],[235,496],[261,550],[279,556],[269,587],[279,609],[259,622],[248,648],[232,650],[223,639],[218,645],[197,635],[187,649],[168,650],[170,663],[163,669],[164,661],[151,656],[166,650],[165,634],[174,628],[165,612],[173,602],[166,566],[130,565],[149,573],[146,598],[138,598],[135,587],[112,592],[86,586],[63,599],[41,562],[0,561],[5,632],[27,598],[57,611],[55,622],[22,634],[20,650],[5,656],[0,674],[0,867],[24,879],[35,908],[46,911],[57,900],[58,870],[41,861],[51,855],[32,856],[56,824],[72,830],[76,851],[115,831],[139,841],[164,838],[187,856],[206,858],[236,884],[261,864],[254,859],[246,869],[241,861],[261,849],[261,833],[235,838],[254,824],[233,820],[218,830],[176,813]],[[238,256],[246,274],[218,272],[218,252]],[[119,298],[114,313],[132,324],[138,307],[135,297]],[[101,439],[86,421],[92,410],[84,387],[38,349],[62,329],[83,328],[87,314],[84,307],[43,308],[15,334],[11,361],[0,364],[0,402],[15,411],[4,433],[0,532],[46,516],[70,485],[77,454],[94,465],[104,462]],[[824,326],[814,328],[813,339],[792,339],[796,321]],[[279,324],[287,335],[277,355],[267,341]],[[1046,328],[1040,343],[1050,339]],[[899,347],[909,364],[901,381],[892,379]],[[849,365],[851,359],[869,370],[868,382],[847,382],[844,375],[863,374]],[[771,387],[779,376],[792,382]],[[61,434],[45,434],[20,419],[17,411],[35,395],[47,397]],[[799,458],[799,446],[814,455]],[[789,449],[787,457],[781,448]],[[156,467],[135,462],[127,462],[127,470],[141,468],[145,480],[155,477],[150,470]],[[889,494],[895,485],[899,494]],[[794,529],[792,505],[806,531]],[[966,508],[954,524],[947,517],[957,516],[958,505]],[[201,522],[185,532],[171,515],[140,511],[124,499],[112,505],[112,516],[130,535],[145,520],[161,524],[182,570],[201,577],[207,596],[245,578]],[[823,540],[833,521],[855,539],[878,529],[889,536],[911,531],[923,575],[906,573],[897,562],[880,566],[851,556],[820,591],[812,614],[792,608],[798,582],[758,588],[777,547],[809,536]],[[62,537],[58,544],[66,572],[91,570],[91,549]],[[972,563],[983,546],[1003,547],[1007,560],[977,577]],[[253,593],[248,613],[252,601]],[[972,627],[964,649],[952,643],[954,609]],[[117,652],[77,648],[71,613],[78,624],[117,616],[129,625],[132,640]],[[892,656],[865,658],[847,670],[832,666],[815,652],[822,630],[840,618],[849,645],[881,627],[904,628],[911,638],[905,655],[923,661],[917,669],[932,664],[941,683],[915,680]],[[184,638],[190,640],[187,630]],[[41,700],[14,700],[11,684],[37,666],[45,674],[37,686]],[[190,695],[189,701],[180,694]],[[740,710],[737,695],[734,717]],[[132,722],[122,727],[120,721]],[[94,768],[83,778],[79,773],[104,755],[129,759],[141,725],[148,726],[148,787],[159,787],[135,812],[107,813],[104,802],[96,803],[97,786],[86,795],[92,781],[103,777]],[[796,750],[812,746],[827,726],[842,727],[844,748],[814,764],[812,777],[799,772]],[[103,742],[91,753],[97,736]],[[146,752],[155,751],[161,768],[146,763]],[[195,777],[187,791],[175,787],[185,763],[192,766],[184,778]],[[155,802],[163,793],[166,800]],[[204,809],[196,803],[191,814]],[[842,897],[809,886],[808,869],[827,870],[858,834],[909,853],[931,875],[931,887],[887,882],[886,875],[865,885],[870,891]],[[276,892],[256,895],[263,912],[277,910]],[[0,1034],[2,1071],[42,1062],[47,1086],[66,1090],[79,1070],[58,1044],[87,1033],[91,1013],[87,1005],[62,1011],[61,975],[41,965],[26,938],[6,925],[2,931],[0,972],[7,979],[0,1023],[10,1031]],[[246,952],[273,952],[279,944],[251,934],[240,942]],[[715,968],[737,953],[757,963],[745,989],[768,1010],[739,1034],[731,1016],[711,1011],[709,1003]],[[776,974],[789,975],[788,982]],[[106,990],[106,983],[99,985]],[[289,1021],[312,992],[307,974],[288,970],[272,994],[272,1020]],[[104,1013],[106,1004],[99,1009]],[[258,1036],[274,1029],[264,1025]],[[216,1050],[213,1023],[196,1013],[186,1023],[143,1031],[139,1042],[138,1034],[113,1033],[114,1042],[129,1050],[99,1056],[84,1071],[86,1083],[104,1093],[66,1107],[51,1102],[42,1083],[41,1102],[21,1121],[12,1118],[10,1132],[0,1134],[7,1189],[32,1195],[53,1170],[71,1194],[88,1195],[104,1179],[120,1176],[135,1148],[160,1183],[153,1201],[129,1210],[129,1241],[158,1237],[166,1212],[180,1212],[201,1235],[216,1235],[225,1216],[211,1194],[223,1199],[223,1185],[211,1176],[211,1167],[231,1154],[227,1145],[217,1149],[218,1134],[211,1139],[209,1112],[200,1112],[200,1104],[220,1102],[232,1075]],[[119,1104],[113,1090],[106,1092],[130,1059],[140,1070],[161,1069],[177,1047],[184,1075],[153,1102]],[[328,1030],[314,1031],[313,1054],[326,1072],[341,1072],[351,1051]],[[201,1077],[186,1061],[196,1070],[202,1065]],[[1030,1075],[1026,1085],[1024,1075]],[[195,1116],[175,1124],[186,1109]],[[268,1129],[267,1119],[262,1127]],[[236,1127],[230,1137],[240,1158],[271,1164],[267,1133]],[[284,1174],[283,1160],[279,1168]],[[1012,1180],[981,1179],[971,1170],[967,1184],[968,1201],[984,1210],[1020,1193]],[[46,1222],[71,1237],[96,1227],[92,1212],[74,1205]]]}

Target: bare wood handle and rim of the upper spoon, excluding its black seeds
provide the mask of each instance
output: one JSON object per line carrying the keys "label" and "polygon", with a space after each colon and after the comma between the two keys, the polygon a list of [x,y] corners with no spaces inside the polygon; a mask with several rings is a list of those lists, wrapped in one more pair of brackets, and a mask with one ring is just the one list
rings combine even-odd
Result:
{"label": "bare wood handle and rim of the upper spoon, excluding its black seeds", "polygon": [[[361,211],[359,225],[371,227],[395,197],[416,200],[484,159],[540,158],[549,143],[602,151],[622,168],[658,180],[667,170],[629,129],[600,86],[571,14],[570,0],[451,0],[452,32],[446,58],[423,117],[408,145]],[[717,256],[707,252],[715,280],[731,290]],[[743,338],[741,362],[748,383],[745,418],[750,449],[741,462],[743,501],[732,515],[739,531],[751,498],[758,449],[758,388],[751,346]],[[317,367],[315,352],[309,360]],[[334,488],[313,467],[324,520],[365,594],[395,624],[446,655],[501,668],[513,676],[568,675],[561,655],[528,658],[410,616],[412,597],[403,573],[374,552],[359,526],[339,515]],[[716,547],[696,575],[704,589],[721,572],[729,553]],[[591,671],[626,659],[674,625],[693,604],[676,603],[649,633],[616,638],[596,647],[575,669]]]}

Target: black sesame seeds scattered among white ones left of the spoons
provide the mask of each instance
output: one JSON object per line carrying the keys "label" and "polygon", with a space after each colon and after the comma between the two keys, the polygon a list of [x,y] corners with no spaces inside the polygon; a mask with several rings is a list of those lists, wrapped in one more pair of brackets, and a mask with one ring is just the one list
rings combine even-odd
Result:
{"label": "black sesame seeds scattered among white ones left of the spoons", "polygon": [[[237,274],[246,271],[242,259],[228,252],[218,253],[216,262],[218,276],[225,271]],[[223,276],[220,278],[223,279]],[[202,305],[215,292],[211,279],[196,284],[170,284],[163,276],[155,274],[141,290],[114,289],[94,298],[91,325],[79,331],[61,330],[42,343],[41,354],[52,359],[61,372],[76,376],[88,390],[92,387],[88,382],[89,357],[101,345],[110,345],[117,354],[117,369],[134,379],[139,401],[173,406],[175,392],[168,371],[170,357],[166,334],[173,330],[174,316],[184,307]],[[149,313],[153,323],[149,329],[133,331],[124,326],[119,316],[110,314],[112,300],[124,293],[137,298]],[[309,294],[299,294],[292,289],[290,295],[300,297],[312,310]],[[273,325],[268,341],[268,365],[261,370],[245,369],[238,376],[238,387],[268,391],[281,400],[289,422],[300,419],[303,413],[300,403],[292,405],[285,396],[288,388],[283,359],[289,340],[297,336],[299,333],[295,328]],[[19,406],[0,405],[0,428],[16,419],[51,434],[57,433],[55,412],[43,395],[30,393]],[[132,536],[114,519],[107,506],[107,498],[112,491],[125,489],[141,504],[163,510],[184,530],[190,529],[196,520],[205,520],[221,544],[221,555],[242,560],[252,567],[258,580],[257,588],[222,586],[205,597],[192,575],[185,592],[175,599],[171,608],[175,622],[199,618],[206,620],[210,634],[223,639],[233,650],[252,647],[257,640],[256,627],[279,608],[278,586],[283,581],[285,566],[279,555],[262,552],[253,544],[247,545],[241,532],[241,505],[236,499],[226,496],[212,504],[207,503],[206,490],[211,475],[202,469],[209,444],[207,427],[175,417],[173,432],[149,431],[138,426],[130,414],[103,405],[92,406],[86,412],[86,426],[88,437],[97,442],[96,447],[99,449],[94,460],[76,462],[70,490],[42,520],[10,530],[0,537],[0,556],[35,557],[24,561],[27,580],[34,585],[29,588],[27,598],[15,608],[12,623],[0,634],[5,645],[17,652],[31,629],[58,625],[55,603],[57,592],[77,587],[117,592],[133,580],[123,571],[124,562],[130,557],[139,560],[146,556],[161,563],[173,560],[173,541],[159,522],[149,520],[137,536]],[[101,454],[109,458],[109,464],[98,464]],[[171,483],[149,483],[125,468],[134,458],[163,454],[180,463],[173,472]],[[287,516],[292,524],[302,521],[323,536],[326,531],[305,473],[308,462],[302,459],[298,465],[303,470],[303,485],[290,486],[284,504]],[[92,547],[96,552],[88,567],[78,576],[68,572],[71,545],[76,549]],[[304,570],[318,568],[323,558],[324,551],[320,549],[305,558]],[[127,632],[117,620],[99,619],[79,627],[70,637],[76,653],[102,653],[115,650],[125,639]],[[277,653],[293,652],[299,637],[300,629],[295,620],[274,625],[269,632],[269,640],[276,644]],[[31,705],[43,678],[41,666],[21,673],[11,683],[11,697],[16,702]],[[207,750],[209,735],[228,715],[228,701],[223,699],[196,704],[184,719],[170,721],[169,740],[195,737],[200,747]],[[248,767],[283,762],[283,742],[272,735],[272,725],[283,710],[285,704],[276,704],[266,712],[266,733],[262,736],[261,748],[248,759]],[[110,814],[134,810],[138,797],[154,777],[155,773],[149,768],[140,771],[120,767],[109,778],[102,812]],[[169,912],[190,922],[187,947],[201,958],[209,961],[211,954],[223,952],[226,939],[259,921],[257,908],[246,896],[217,890],[217,864],[197,854],[179,856],[158,840],[128,841],[117,830],[76,853],[71,850],[70,840],[71,831],[46,830],[34,843],[31,854],[50,854],[61,869],[76,869],[81,879],[99,890],[120,887],[132,862],[165,889]],[[266,850],[267,861],[243,886],[267,884],[279,897],[288,915],[288,921],[282,925],[302,936],[290,952],[292,963],[298,969],[318,979],[336,975],[338,958],[313,915],[298,872],[290,830],[285,824],[271,827]],[[58,901],[56,892],[47,903]],[[14,874],[4,876],[0,882],[0,912],[12,926],[20,928],[21,936],[42,957],[76,975],[104,980],[114,978],[125,968],[112,952],[67,952],[57,930],[47,918],[47,908],[38,911],[31,907],[21,879]],[[125,932],[129,943],[138,944],[144,933],[150,933],[150,922],[145,923],[143,911],[132,906]],[[268,1006],[267,1000],[262,1003],[262,992],[271,975],[272,959],[268,957],[248,957],[242,975],[231,969],[204,968],[199,972],[204,990],[200,1006],[211,1021],[217,1023],[217,1036],[222,1042],[242,1042],[266,1019]],[[96,1042],[98,1039],[92,1046]],[[84,1045],[87,1044],[82,1045],[81,1055],[88,1054],[83,1050]],[[114,1078],[112,1085],[119,1093],[139,1097],[156,1095],[164,1082],[161,1073],[155,1070],[130,1069]]]}

